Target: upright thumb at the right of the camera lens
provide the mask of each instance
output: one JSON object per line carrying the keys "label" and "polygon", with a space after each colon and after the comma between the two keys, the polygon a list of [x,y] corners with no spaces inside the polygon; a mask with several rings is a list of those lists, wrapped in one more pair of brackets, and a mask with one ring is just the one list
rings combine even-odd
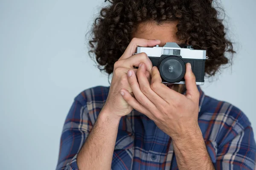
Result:
{"label": "upright thumb at the right of the camera lens", "polygon": [[190,99],[197,99],[199,91],[195,81],[195,75],[192,72],[191,64],[186,64],[186,74],[184,76],[186,83],[186,96]]}

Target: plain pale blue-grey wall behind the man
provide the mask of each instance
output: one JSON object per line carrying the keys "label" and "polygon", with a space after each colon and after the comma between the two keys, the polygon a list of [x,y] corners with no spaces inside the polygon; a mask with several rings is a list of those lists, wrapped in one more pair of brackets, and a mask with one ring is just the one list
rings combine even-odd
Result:
{"label": "plain pale blue-grey wall behind the man", "polygon": [[[74,97],[109,85],[87,55],[85,34],[104,0],[0,0],[0,169],[55,169]],[[241,108],[256,131],[255,0],[225,0],[234,65],[202,86]]]}

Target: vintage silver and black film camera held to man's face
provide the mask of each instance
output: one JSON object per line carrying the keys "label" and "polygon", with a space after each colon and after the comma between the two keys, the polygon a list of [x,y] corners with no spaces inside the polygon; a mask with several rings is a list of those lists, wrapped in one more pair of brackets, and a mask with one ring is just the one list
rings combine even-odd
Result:
{"label": "vintage silver and black film camera held to man's face", "polygon": [[204,85],[204,66],[208,59],[205,50],[195,50],[192,45],[177,45],[167,42],[163,47],[137,47],[137,54],[145,52],[153,66],[157,66],[162,82],[165,84],[185,84],[183,78],[186,72],[186,63],[192,66],[196,84]]}

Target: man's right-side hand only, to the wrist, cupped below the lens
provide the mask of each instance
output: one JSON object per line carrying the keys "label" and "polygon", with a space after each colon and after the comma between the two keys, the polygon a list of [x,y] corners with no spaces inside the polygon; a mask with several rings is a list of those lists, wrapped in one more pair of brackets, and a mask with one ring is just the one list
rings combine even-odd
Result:
{"label": "man's right-side hand only, to the wrist, cupped below the lens", "polygon": [[157,67],[152,68],[150,84],[145,76],[145,64],[139,66],[137,77],[133,70],[128,71],[128,82],[135,98],[126,89],[122,89],[125,101],[153,120],[173,140],[182,139],[188,133],[198,130],[199,91],[191,65],[186,65],[186,95],[161,83]]}

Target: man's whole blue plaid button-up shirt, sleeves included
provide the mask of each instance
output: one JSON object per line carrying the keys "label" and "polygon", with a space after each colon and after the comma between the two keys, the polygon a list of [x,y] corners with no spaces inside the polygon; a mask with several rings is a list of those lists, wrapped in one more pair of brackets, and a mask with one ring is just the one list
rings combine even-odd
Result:
{"label": "man's whole blue plaid button-up shirt, sleeves included", "polygon": [[[198,124],[207,151],[218,170],[254,170],[256,144],[247,117],[235,106],[200,91]],[[76,96],[61,135],[57,170],[78,170],[76,156],[90,134],[109,87],[94,87]],[[112,170],[177,170],[170,137],[133,110],[118,127]]]}

